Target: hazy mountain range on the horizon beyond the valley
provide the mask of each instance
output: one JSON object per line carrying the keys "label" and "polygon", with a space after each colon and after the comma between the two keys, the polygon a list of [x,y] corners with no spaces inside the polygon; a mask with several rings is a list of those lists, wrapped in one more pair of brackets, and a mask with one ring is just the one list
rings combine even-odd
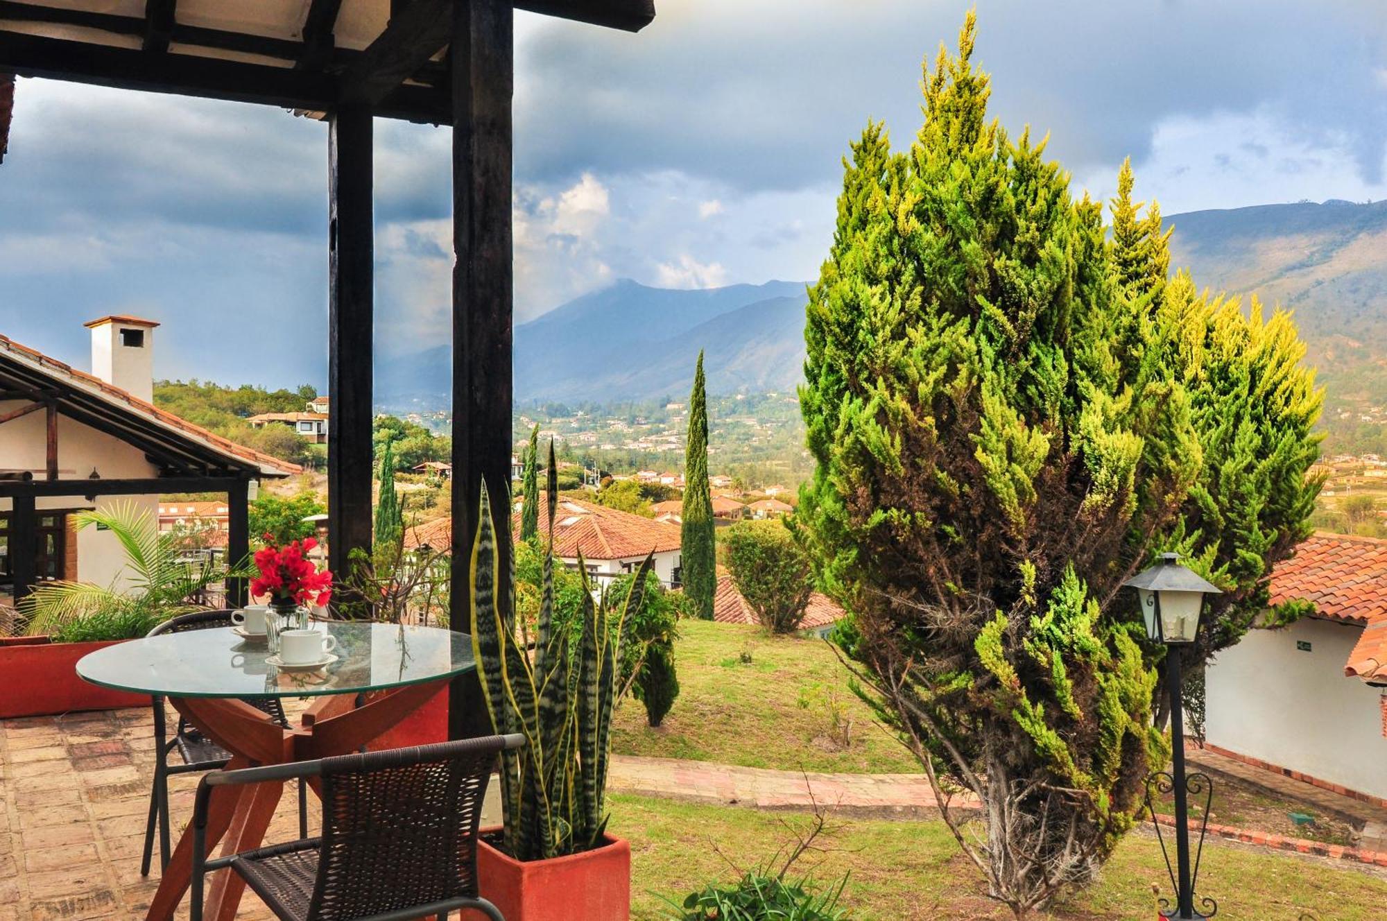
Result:
{"label": "hazy mountain range on the horizon beyond the valley", "polygon": [[[1255,291],[1268,308],[1295,311],[1330,406],[1387,405],[1387,203],[1259,205],[1168,221],[1173,264],[1190,268],[1200,287]],[[710,393],[789,390],[802,373],[803,308],[802,282],[700,291],[617,282],[516,327],[516,398],[678,398],[699,348]],[[444,345],[379,363],[376,387],[390,408],[445,408],[449,376]]]}

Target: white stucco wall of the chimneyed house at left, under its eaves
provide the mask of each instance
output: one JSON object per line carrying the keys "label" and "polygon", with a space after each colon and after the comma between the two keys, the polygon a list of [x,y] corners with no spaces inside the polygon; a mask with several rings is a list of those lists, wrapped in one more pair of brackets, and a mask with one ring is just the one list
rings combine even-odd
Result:
{"label": "white stucco wall of the chimneyed house at left, under its eaves", "polygon": [[[0,401],[0,413],[17,409],[26,401]],[[43,477],[47,454],[47,422],[44,413],[32,412],[0,426],[0,470],[32,470]],[[80,480],[96,469],[101,479],[143,479],[158,474],[158,467],[144,458],[144,452],[119,438],[97,431],[67,416],[58,416],[58,476]],[[101,508],[129,502],[150,515],[158,513],[158,497],[103,497]],[[40,498],[39,509],[97,508],[80,495]],[[10,499],[0,498],[0,510],[10,510]],[[78,534],[78,578],[111,585],[123,567],[125,555],[119,541],[110,531],[86,528]]]}

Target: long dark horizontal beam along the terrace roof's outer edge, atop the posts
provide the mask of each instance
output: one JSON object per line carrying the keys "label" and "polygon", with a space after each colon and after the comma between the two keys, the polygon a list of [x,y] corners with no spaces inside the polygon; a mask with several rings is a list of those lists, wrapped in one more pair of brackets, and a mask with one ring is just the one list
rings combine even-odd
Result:
{"label": "long dark horizontal beam along the terrace roof's outer edge, atop the posts", "polygon": [[[17,32],[0,32],[0,71],[280,108],[331,111],[338,104],[338,80],[327,74],[189,54],[151,54]],[[430,86],[398,86],[380,100],[374,114],[447,123],[447,92]]]}

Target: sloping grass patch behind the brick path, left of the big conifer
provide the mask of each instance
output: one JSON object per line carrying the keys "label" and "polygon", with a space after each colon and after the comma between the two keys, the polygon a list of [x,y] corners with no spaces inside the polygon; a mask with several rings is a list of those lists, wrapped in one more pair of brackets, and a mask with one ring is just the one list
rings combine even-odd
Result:
{"label": "sloping grass patch behind the brick path, left of the big conifer", "polygon": [[674,655],[674,709],[652,730],[641,702],[627,699],[616,714],[612,750],[786,771],[920,770],[847,689],[847,671],[822,639],[685,620]]}

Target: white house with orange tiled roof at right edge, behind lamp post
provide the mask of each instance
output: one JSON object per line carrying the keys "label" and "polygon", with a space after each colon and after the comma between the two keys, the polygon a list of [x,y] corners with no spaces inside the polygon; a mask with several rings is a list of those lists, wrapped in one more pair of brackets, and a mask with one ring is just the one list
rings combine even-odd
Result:
{"label": "white house with orange tiled roof at right edge, behind lamp post", "polygon": [[1319,533],[1272,573],[1308,617],[1251,630],[1205,673],[1205,738],[1225,755],[1387,802],[1387,541]]}

